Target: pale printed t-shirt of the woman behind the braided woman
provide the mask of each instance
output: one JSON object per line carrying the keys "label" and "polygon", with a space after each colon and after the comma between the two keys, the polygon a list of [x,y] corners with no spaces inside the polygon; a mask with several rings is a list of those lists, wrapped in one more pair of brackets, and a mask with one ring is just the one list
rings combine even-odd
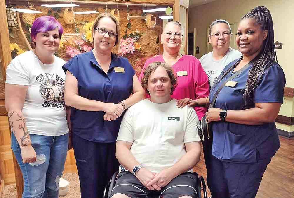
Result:
{"label": "pale printed t-shirt of the woman behind the braided woman", "polygon": [[209,52],[199,59],[205,73],[208,76],[209,89],[211,89],[213,84],[216,82],[216,79],[218,79],[218,76],[223,71],[225,66],[233,60],[239,59],[242,55],[241,52],[230,47],[228,53],[225,54],[223,58],[216,61],[213,59],[212,53],[213,52]]}

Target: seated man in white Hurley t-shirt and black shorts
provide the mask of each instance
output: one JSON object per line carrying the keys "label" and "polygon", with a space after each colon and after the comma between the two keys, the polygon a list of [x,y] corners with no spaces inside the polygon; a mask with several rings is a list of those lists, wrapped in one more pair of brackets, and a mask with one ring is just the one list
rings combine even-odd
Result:
{"label": "seated man in white Hurley t-shirt and black shorts", "polygon": [[116,142],[121,173],[110,197],[197,197],[191,169],[201,152],[198,117],[192,107],[176,106],[171,98],[176,83],[167,63],[146,68],[142,85],[150,98],[130,107],[123,117]]}

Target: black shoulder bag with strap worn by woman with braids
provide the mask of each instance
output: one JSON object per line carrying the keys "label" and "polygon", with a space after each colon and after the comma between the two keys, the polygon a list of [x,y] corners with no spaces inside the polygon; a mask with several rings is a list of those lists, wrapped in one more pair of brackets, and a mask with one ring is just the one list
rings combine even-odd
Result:
{"label": "black shoulder bag with strap worn by woman with braids", "polygon": [[[220,90],[225,86],[225,84],[228,81],[233,80],[236,76],[238,76],[242,71],[247,69],[249,66],[252,65],[252,61],[250,61],[248,64],[246,64],[242,69],[239,71],[236,71],[230,78],[228,78],[216,91],[216,93],[213,95],[213,99],[208,107],[212,108],[216,102],[216,98],[218,96],[218,93],[220,93]],[[213,133],[212,133],[212,124],[207,123],[205,121],[206,119],[206,114],[201,118],[201,120],[198,121],[197,123],[197,129],[198,129],[198,134],[200,136],[200,140],[202,141],[202,144],[204,145],[212,145],[212,140],[213,140]]]}

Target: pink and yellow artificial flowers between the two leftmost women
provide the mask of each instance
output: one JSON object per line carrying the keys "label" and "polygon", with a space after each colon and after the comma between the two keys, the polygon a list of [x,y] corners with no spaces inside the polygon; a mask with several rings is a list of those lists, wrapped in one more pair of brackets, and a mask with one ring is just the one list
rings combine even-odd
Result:
{"label": "pink and yellow artificial flowers between the two leftmost women", "polygon": [[[93,49],[93,37],[92,37],[92,28],[94,25],[94,21],[86,22],[83,25],[84,32],[81,35],[81,39],[76,38],[72,41],[73,45],[66,46],[66,55],[69,58],[76,56],[77,54],[81,54],[83,52],[89,52]],[[61,43],[61,47],[63,47],[63,43]]]}

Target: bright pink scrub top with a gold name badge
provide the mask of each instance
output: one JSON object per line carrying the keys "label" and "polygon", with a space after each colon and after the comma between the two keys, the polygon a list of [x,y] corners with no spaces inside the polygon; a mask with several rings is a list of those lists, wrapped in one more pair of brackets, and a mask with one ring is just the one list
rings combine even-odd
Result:
{"label": "bright pink scrub top with a gold name badge", "polygon": [[[146,60],[144,67],[139,76],[139,81],[143,78],[143,72],[146,67],[153,62],[160,61],[164,62],[162,55],[152,57]],[[171,95],[172,98],[177,100],[183,98],[191,98],[192,100],[198,98],[205,98],[209,96],[209,84],[208,77],[203,70],[200,61],[191,55],[183,55],[173,66],[174,74],[178,76],[178,85]],[[187,74],[187,75],[185,75]],[[148,97],[150,97],[148,95]],[[199,120],[204,116],[207,109],[204,107],[195,107],[195,111],[198,115]]]}

